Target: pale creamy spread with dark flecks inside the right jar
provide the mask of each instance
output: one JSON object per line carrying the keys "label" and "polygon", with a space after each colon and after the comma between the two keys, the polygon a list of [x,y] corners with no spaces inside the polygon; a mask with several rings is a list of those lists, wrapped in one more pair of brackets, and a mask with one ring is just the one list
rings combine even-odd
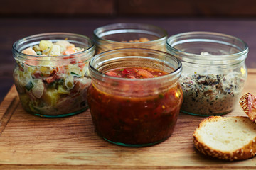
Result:
{"label": "pale creamy spread with dark flecks inside the right jar", "polygon": [[181,111],[193,115],[222,115],[233,110],[245,79],[238,72],[229,74],[183,74]]}

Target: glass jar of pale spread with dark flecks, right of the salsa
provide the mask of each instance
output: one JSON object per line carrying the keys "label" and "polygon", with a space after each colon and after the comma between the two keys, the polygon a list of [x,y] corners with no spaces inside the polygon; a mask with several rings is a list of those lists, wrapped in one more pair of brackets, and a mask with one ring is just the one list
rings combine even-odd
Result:
{"label": "glass jar of pale spread with dark flecks, right of the salsa", "polygon": [[191,115],[223,115],[238,103],[247,68],[248,47],[239,38],[221,33],[173,35],[167,51],[183,64],[181,111]]}

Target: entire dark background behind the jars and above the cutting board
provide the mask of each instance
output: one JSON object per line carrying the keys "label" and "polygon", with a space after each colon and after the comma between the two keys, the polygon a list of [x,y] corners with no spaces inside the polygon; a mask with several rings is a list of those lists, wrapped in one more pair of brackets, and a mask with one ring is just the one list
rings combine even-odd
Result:
{"label": "entire dark background behind the jars and above the cutting board", "polygon": [[110,23],[149,23],[170,35],[213,31],[247,42],[247,67],[256,67],[256,1],[253,0],[1,0],[0,102],[13,84],[12,44],[37,33],[87,35]]}

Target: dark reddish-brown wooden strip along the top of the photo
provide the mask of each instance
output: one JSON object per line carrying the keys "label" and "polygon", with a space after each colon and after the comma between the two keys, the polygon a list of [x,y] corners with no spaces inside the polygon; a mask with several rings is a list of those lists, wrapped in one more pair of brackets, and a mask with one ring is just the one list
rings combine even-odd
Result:
{"label": "dark reddish-brown wooden strip along the top of the photo", "polygon": [[1,16],[255,17],[255,0],[1,0]]}

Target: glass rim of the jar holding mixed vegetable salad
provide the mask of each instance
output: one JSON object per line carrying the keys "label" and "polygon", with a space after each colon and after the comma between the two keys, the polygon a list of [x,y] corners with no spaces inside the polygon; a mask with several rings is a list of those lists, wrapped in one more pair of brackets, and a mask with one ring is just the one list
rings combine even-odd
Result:
{"label": "glass rim of the jar holding mixed vegetable salad", "polygon": [[[90,45],[90,47],[88,47],[86,50],[82,51],[82,52],[76,52],[76,53],[73,53],[73,54],[70,54],[70,55],[58,55],[58,56],[40,56],[40,55],[26,55],[24,54],[23,52],[20,52],[19,50],[16,49],[16,45],[18,44],[18,42],[26,42],[26,40],[33,40],[33,39],[36,39],[36,38],[43,38],[44,36],[51,36],[51,35],[67,35],[67,37],[75,37],[75,38],[85,38],[86,40],[89,40],[91,42],[92,45]],[[14,42],[14,44],[12,45],[12,49],[14,50],[14,52],[16,52],[18,55],[26,55],[26,56],[29,56],[29,57],[58,57],[58,58],[62,58],[62,57],[69,57],[71,55],[80,55],[82,53],[85,53],[85,52],[88,52],[88,51],[91,51],[95,48],[95,43],[93,40],[91,40],[90,38],[88,38],[87,36],[85,35],[81,35],[81,34],[76,34],[76,33],[65,33],[65,32],[53,32],[53,33],[40,33],[40,34],[35,34],[35,35],[29,35],[25,38],[21,38],[19,40],[16,40],[16,42]]]}

